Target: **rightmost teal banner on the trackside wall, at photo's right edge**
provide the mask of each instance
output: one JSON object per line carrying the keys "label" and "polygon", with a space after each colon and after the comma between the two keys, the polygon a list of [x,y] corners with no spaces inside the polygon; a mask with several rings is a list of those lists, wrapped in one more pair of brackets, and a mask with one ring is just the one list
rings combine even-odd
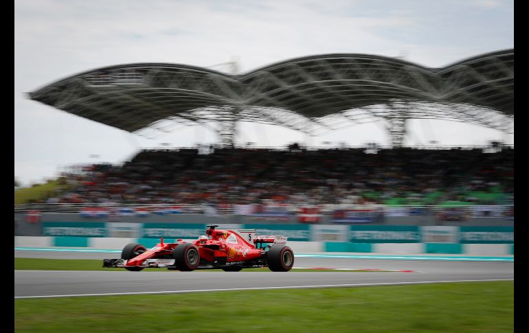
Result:
{"label": "rightmost teal banner on the trackside wall, at photo's right edge", "polygon": [[460,227],[462,244],[513,244],[514,227]]}

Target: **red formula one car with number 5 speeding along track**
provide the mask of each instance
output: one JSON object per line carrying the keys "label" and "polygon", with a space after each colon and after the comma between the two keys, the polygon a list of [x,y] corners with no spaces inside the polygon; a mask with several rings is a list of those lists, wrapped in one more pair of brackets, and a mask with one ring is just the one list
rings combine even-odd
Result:
{"label": "red formula one car with number 5 speeding along track", "polygon": [[200,236],[193,242],[164,243],[161,238],[153,249],[146,249],[142,244],[127,244],[121,259],[104,259],[103,267],[122,267],[128,271],[160,267],[179,271],[221,268],[227,272],[268,267],[274,272],[286,272],[294,265],[294,253],[286,246],[284,236],[255,236],[255,230],[207,227],[207,236]]}

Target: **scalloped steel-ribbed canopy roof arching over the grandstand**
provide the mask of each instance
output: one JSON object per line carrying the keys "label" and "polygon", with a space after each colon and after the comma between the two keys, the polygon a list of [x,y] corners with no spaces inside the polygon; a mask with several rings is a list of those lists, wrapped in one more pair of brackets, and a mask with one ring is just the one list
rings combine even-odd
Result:
{"label": "scalloped steel-ribbed canopy roof arching over the grandstand", "polygon": [[140,134],[216,121],[228,140],[235,121],[316,134],[385,119],[398,145],[406,119],[509,131],[513,89],[514,49],[506,49],[437,69],[370,54],[306,56],[243,75],[168,63],[115,65],[48,84],[30,98]]}

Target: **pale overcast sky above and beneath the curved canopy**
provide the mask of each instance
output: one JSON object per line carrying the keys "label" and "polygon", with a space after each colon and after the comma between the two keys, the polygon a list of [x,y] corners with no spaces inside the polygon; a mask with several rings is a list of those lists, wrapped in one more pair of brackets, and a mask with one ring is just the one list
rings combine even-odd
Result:
{"label": "pale overcast sky above and beneath the curved canopy", "polygon": [[[280,0],[14,2],[14,176],[23,185],[58,176],[76,163],[122,163],[160,143],[214,143],[192,126],[147,139],[34,102],[26,93],[82,71],[133,62],[212,67],[238,58],[245,73],[273,62],[328,53],[405,55],[444,67],[514,47],[511,0]],[[212,67],[227,71],[228,67]],[[482,145],[513,135],[480,126],[412,121],[406,143]],[[308,137],[274,126],[242,124],[238,142],[389,144],[383,124]]]}

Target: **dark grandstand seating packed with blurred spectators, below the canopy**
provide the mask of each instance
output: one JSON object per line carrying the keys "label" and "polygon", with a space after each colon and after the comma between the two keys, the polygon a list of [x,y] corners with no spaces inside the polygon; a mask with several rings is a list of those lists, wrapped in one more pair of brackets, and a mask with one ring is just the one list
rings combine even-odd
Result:
{"label": "dark grandstand seating packed with blurred spectators, below the canopy", "polygon": [[144,150],[64,174],[59,203],[509,205],[514,149]]}

